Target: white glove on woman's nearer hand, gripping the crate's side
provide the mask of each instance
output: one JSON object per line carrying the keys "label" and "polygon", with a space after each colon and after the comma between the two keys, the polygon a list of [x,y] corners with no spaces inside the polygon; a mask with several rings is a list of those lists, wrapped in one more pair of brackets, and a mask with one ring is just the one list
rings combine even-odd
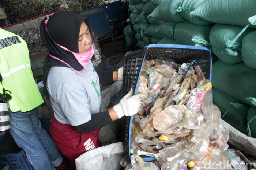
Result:
{"label": "white glove on woman's nearer hand, gripping the crate's side", "polygon": [[140,96],[139,94],[132,95],[133,89],[125,95],[120,102],[113,107],[113,110],[116,112],[118,118],[123,116],[132,116],[139,111],[140,107]]}

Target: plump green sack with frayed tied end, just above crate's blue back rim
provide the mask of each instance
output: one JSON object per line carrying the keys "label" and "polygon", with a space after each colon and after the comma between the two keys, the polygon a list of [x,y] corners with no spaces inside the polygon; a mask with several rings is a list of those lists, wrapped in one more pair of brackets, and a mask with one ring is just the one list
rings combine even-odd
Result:
{"label": "plump green sack with frayed tied end, just above crate's blue back rim", "polygon": [[212,26],[189,22],[177,23],[174,28],[174,37],[180,44],[210,47],[209,34]]}

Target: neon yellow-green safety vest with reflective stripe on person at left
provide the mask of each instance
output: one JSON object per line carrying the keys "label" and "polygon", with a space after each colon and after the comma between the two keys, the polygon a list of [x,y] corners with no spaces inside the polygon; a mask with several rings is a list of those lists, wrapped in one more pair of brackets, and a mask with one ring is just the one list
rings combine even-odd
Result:
{"label": "neon yellow-green safety vest with reflective stripe on person at left", "polygon": [[[26,42],[18,35],[0,28],[0,93],[11,92],[8,102],[12,112],[30,111],[44,100],[33,78]],[[9,92],[6,92],[9,94]]]}

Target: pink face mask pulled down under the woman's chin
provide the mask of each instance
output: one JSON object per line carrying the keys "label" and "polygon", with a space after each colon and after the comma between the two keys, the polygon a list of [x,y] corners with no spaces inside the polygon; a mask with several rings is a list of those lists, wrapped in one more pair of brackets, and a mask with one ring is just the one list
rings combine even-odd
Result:
{"label": "pink face mask pulled down under the woman's chin", "polygon": [[[56,43],[55,43],[55,44],[56,44]],[[57,60],[60,60],[61,62],[67,64],[67,66],[69,66],[70,68],[72,68],[77,74],[84,75],[84,74],[87,73],[87,68],[86,68],[86,66],[87,66],[87,64],[89,63],[90,59],[92,58],[92,56],[93,56],[93,54],[94,54],[93,45],[91,45],[91,48],[90,48],[89,51],[86,51],[86,52],[83,52],[83,53],[75,53],[75,52],[72,52],[72,51],[68,50],[66,47],[63,47],[63,46],[61,46],[61,45],[59,45],[59,44],[56,44],[56,45],[59,46],[60,48],[64,49],[64,50],[66,50],[66,51],[71,52],[71,53],[75,56],[76,60],[78,60],[78,62],[83,66],[83,68],[86,69],[86,72],[83,73],[83,74],[82,74],[82,73],[79,73],[78,71],[74,70],[71,66],[69,66],[68,63],[66,63],[66,62],[64,62],[63,60],[60,60],[59,58],[57,58],[57,57],[52,56],[52,55],[49,54],[52,58],[57,59]]]}

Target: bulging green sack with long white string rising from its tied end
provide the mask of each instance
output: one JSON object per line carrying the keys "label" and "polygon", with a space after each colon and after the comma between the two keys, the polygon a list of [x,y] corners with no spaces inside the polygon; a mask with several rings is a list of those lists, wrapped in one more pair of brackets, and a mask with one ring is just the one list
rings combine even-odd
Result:
{"label": "bulging green sack with long white string rising from its tied end", "polygon": [[[215,24],[210,32],[211,51],[223,62],[237,64],[243,62],[241,56],[242,39],[253,29],[246,29],[240,36],[243,27],[235,25]],[[238,36],[238,37],[237,37]],[[237,38],[236,38],[237,37]],[[233,44],[231,40],[235,39]]]}

